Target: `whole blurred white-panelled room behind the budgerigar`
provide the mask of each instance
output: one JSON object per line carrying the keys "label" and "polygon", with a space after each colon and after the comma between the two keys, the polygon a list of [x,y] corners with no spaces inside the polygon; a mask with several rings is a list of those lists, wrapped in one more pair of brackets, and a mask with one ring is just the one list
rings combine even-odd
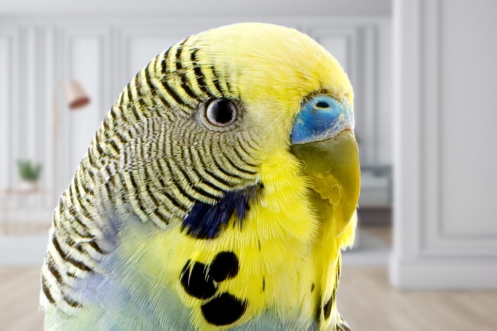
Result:
{"label": "whole blurred white-panelled room behind the budgerigar", "polygon": [[497,330],[497,2],[0,3],[0,329],[41,330],[51,213],[134,74],[189,34],[299,29],[347,71],[362,165],[354,330]]}

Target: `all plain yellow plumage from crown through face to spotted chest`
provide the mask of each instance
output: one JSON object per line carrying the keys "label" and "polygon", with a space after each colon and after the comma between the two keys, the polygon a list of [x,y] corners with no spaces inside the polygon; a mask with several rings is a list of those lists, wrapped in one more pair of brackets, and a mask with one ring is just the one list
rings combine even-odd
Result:
{"label": "all plain yellow plumage from crown through face to spotted chest", "polygon": [[[243,43],[230,43],[232,38]],[[148,273],[157,277],[154,282],[176,288],[184,304],[194,308],[197,313],[192,321],[200,330],[216,328],[199,315],[201,300],[184,294],[178,274],[185,261],[194,259],[207,265],[221,251],[233,251],[241,261],[237,277],[222,282],[220,287],[220,291],[246,298],[250,303],[237,324],[266,309],[282,319],[300,316],[310,324],[318,308],[325,304],[322,296],[331,295],[339,249],[352,245],[356,216],[350,222],[335,220],[331,214],[320,219],[318,206],[310,197],[311,180],[289,152],[288,136],[301,100],[314,91],[345,96],[353,104],[348,77],[327,51],[296,30],[267,24],[251,24],[248,28],[239,24],[191,37],[189,42],[199,47],[200,63],[205,49],[209,52],[205,56],[213,57],[215,66],[224,68],[222,75],[238,91],[250,110],[248,116],[255,118],[261,134],[271,142],[256,156],[261,160],[257,175],[264,183],[264,194],[250,209],[243,228],[233,224],[233,216],[218,238],[205,241],[182,235],[177,225],[147,240],[140,251],[143,257],[138,260],[151,268]],[[335,222],[345,222],[345,230],[337,233]],[[135,244],[130,244],[129,254],[136,250]],[[170,264],[157,265],[156,261]],[[322,330],[336,323],[335,314],[333,304],[332,318],[321,325]]]}

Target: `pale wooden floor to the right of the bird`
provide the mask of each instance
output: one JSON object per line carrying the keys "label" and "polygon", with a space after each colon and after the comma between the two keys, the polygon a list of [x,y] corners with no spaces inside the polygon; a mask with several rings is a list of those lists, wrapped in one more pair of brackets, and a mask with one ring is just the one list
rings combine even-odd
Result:
{"label": "pale wooden floor to the right of the bird", "polygon": [[338,310],[352,330],[496,331],[497,291],[400,291],[384,267],[343,267]]}

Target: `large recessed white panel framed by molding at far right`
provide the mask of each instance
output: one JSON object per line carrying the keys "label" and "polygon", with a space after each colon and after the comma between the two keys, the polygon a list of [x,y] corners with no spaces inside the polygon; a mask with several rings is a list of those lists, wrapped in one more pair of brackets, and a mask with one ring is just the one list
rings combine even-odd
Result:
{"label": "large recessed white panel framed by molding at far right", "polygon": [[441,10],[443,231],[497,240],[497,2],[443,1]]}

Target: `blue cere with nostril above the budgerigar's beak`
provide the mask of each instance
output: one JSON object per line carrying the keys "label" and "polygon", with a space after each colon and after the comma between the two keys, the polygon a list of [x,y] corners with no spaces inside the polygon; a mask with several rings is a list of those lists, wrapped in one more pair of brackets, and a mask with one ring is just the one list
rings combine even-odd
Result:
{"label": "blue cere with nostril above the budgerigar's beak", "polygon": [[317,95],[302,105],[290,141],[301,144],[324,140],[347,128],[354,129],[354,114],[347,100],[339,102],[328,95]]}

